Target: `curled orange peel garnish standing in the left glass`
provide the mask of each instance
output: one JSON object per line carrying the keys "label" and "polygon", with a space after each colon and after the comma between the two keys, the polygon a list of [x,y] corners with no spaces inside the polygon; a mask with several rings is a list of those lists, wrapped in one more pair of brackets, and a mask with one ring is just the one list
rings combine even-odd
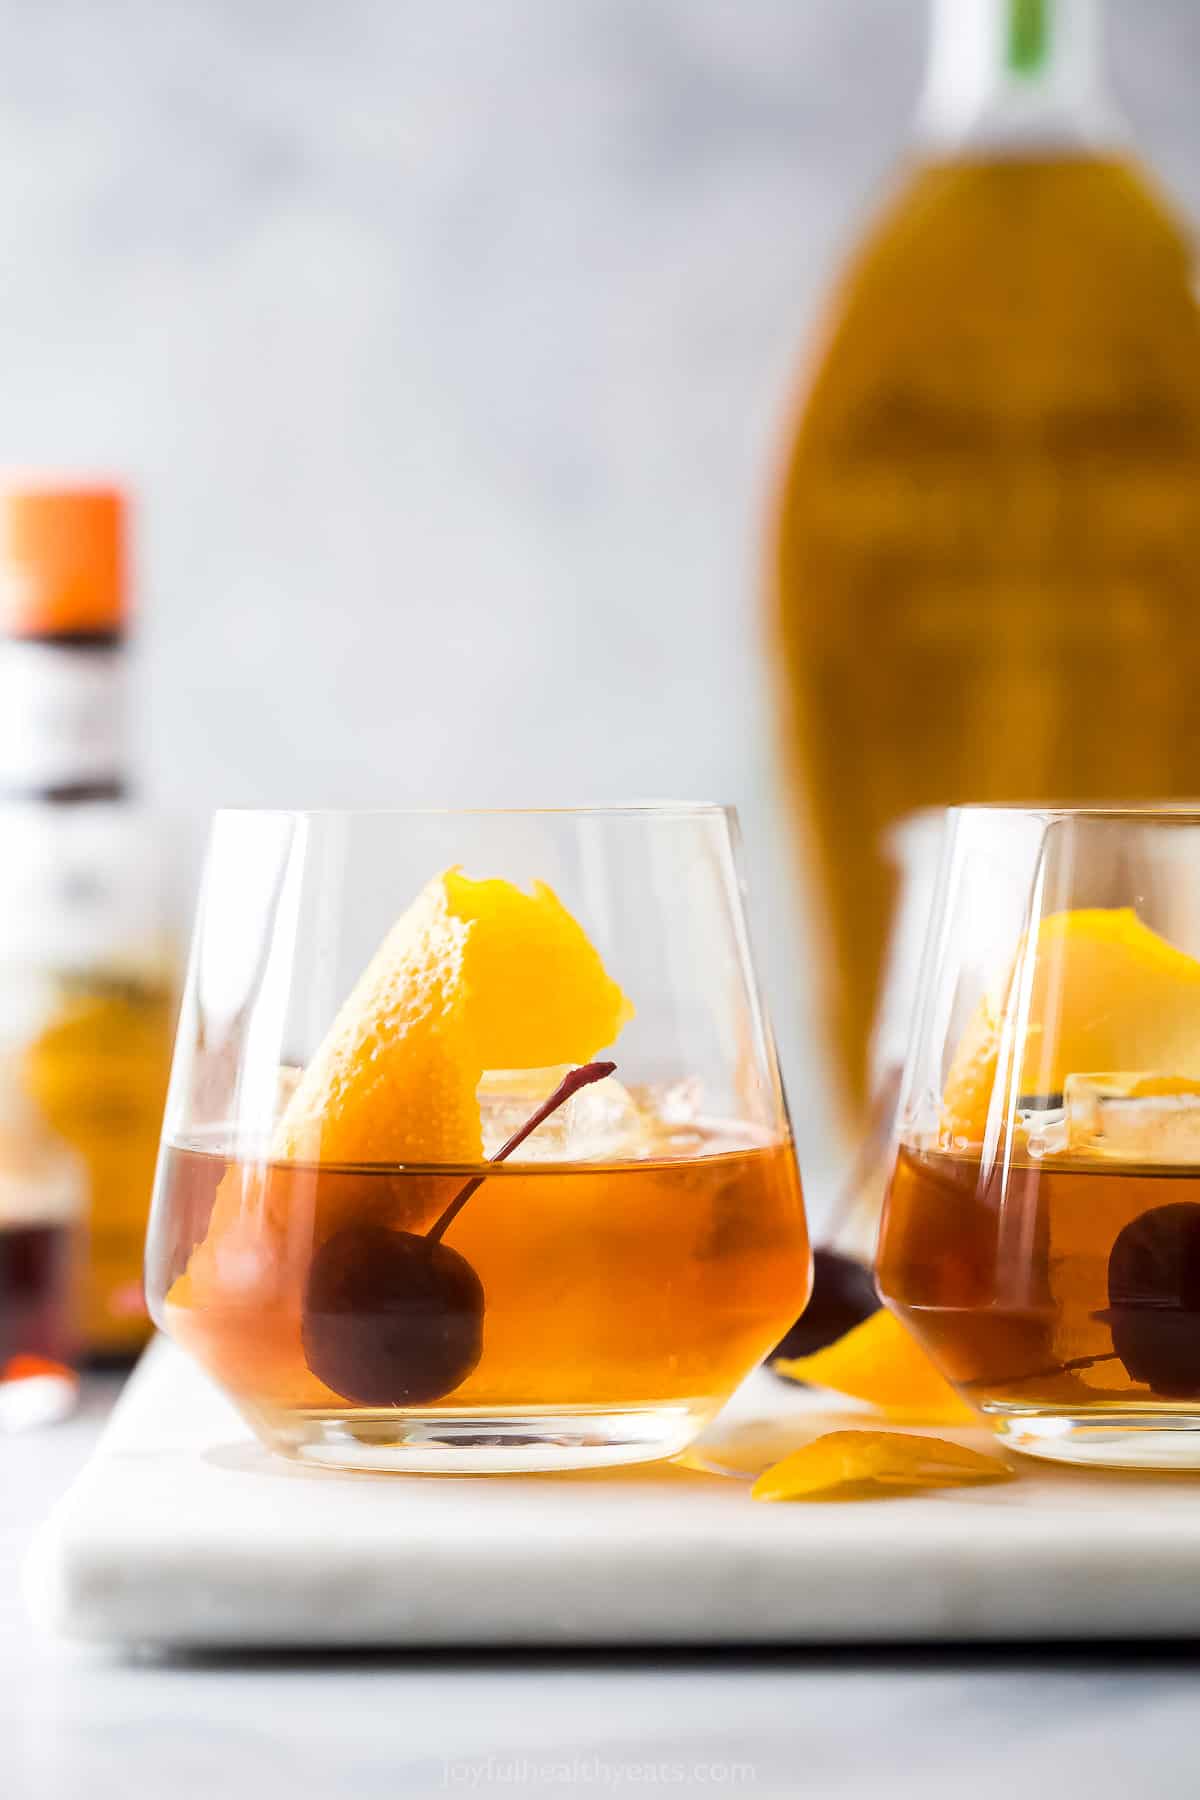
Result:
{"label": "curled orange peel garnish standing in the left glass", "polygon": [[[633,1015],[576,918],[543,882],[446,869],[392,925],[304,1069],[273,1163],[479,1163],[486,1069],[588,1062]],[[293,1188],[223,1177],[173,1305],[246,1303],[279,1274]],[[349,1190],[353,1193],[353,1188]],[[340,1217],[322,1210],[318,1235]]]}

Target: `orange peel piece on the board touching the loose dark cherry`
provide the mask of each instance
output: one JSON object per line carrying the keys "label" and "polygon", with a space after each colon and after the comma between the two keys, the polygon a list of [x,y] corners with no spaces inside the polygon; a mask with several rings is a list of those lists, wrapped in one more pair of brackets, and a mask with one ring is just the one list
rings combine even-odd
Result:
{"label": "orange peel piece on the board touching the loose dark cherry", "polygon": [[831,1388],[855,1400],[867,1400],[889,1418],[979,1424],[966,1400],[959,1399],[916,1337],[885,1307],[824,1350],[777,1357],[772,1368],[813,1388]]}

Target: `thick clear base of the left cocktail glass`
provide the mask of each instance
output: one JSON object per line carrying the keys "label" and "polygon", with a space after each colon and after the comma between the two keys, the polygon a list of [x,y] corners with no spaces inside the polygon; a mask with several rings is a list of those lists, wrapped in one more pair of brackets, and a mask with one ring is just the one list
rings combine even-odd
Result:
{"label": "thick clear base of the left cocktail glass", "polygon": [[295,1462],[376,1474],[534,1474],[676,1456],[716,1400],[660,1406],[466,1411],[250,1413],[263,1442]]}

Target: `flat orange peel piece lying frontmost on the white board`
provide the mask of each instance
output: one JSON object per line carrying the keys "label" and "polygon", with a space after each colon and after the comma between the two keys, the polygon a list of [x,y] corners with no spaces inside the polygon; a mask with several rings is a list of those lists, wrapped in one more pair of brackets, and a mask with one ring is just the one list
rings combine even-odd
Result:
{"label": "flat orange peel piece lying frontmost on the white board", "polygon": [[907,1431],[828,1431],[765,1469],[754,1499],[880,1499],[921,1489],[1011,1481],[1000,1458]]}

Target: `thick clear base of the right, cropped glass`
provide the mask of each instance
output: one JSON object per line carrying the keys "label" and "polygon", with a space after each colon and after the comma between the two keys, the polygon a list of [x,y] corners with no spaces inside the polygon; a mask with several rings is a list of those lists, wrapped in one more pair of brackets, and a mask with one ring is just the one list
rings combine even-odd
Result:
{"label": "thick clear base of the right, cropped glass", "polygon": [[1049,1408],[984,1408],[997,1438],[1022,1456],[1078,1469],[1200,1469],[1200,1411],[1157,1408],[1060,1413]]}

